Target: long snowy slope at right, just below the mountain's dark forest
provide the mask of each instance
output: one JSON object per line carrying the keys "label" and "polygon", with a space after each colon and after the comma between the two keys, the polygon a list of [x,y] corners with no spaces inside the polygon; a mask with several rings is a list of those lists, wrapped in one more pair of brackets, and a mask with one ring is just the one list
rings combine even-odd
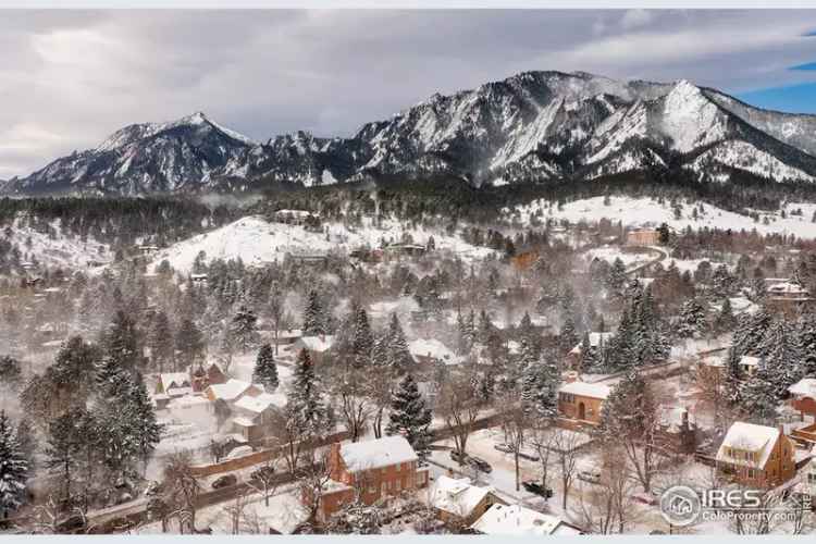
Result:
{"label": "long snowy slope at right, just below the mountain's dark forest", "polygon": [[[556,221],[567,220],[578,223],[581,220],[596,222],[607,218],[614,222],[621,221],[625,226],[657,226],[667,223],[675,230],[683,230],[687,226],[700,228],[731,228],[750,232],[756,230],[761,234],[795,234],[801,238],[816,238],[816,223],[812,223],[816,205],[792,202],[787,205],[787,217],[781,218],[778,213],[767,213],[768,224],[763,220],[755,222],[747,215],[741,215],[731,211],[716,208],[708,203],[695,202],[698,217],[692,217],[693,206],[681,202],[682,210],[680,219],[675,219],[675,213],[668,200],[658,203],[651,198],[608,197],[609,205],[604,206],[605,197],[593,197],[582,200],[567,202],[559,210],[554,202],[544,199],[534,200],[528,205],[516,207],[514,210],[505,210],[512,213],[514,218],[522,224],[529,224],[531,219],[544,222],[548,219]],[[700,213],[700,206],[703,213]],[[801,209],[802,215],[792,215],[790,212]]]}

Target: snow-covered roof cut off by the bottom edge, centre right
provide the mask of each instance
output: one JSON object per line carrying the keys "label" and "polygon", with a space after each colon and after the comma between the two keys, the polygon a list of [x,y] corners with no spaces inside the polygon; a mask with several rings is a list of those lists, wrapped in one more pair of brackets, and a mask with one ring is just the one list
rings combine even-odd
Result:
{"label": "snow-covered roof cut off by the bottom edge, centre right", "polygon": [[566,521],[521,505],[495,504],[470,528],[494,536],[570,536],[583,532]]}

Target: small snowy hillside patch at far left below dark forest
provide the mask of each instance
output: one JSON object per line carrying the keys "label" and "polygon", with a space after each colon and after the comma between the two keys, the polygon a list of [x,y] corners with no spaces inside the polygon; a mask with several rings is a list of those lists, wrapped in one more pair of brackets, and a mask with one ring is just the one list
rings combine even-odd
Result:
{"label": "small snowy hillside patch at far left below dark forest", "polygon": [[41,233],[16,219],[5,233],[0,231],[0,236],[10,235],[7,239],[20,248],[22,261],[36,259],[40,264],[48,267],[84,269],[113,260],[113,254],[107,244],[91,237],[82,240],[77,236],[63,233],[60,220],[52,221],[50,227],[50,234]]}

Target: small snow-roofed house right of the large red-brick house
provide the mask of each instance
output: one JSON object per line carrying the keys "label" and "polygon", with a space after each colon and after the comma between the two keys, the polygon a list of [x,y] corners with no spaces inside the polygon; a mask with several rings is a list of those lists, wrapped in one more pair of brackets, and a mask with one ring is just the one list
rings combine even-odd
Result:
{"label": "small snow-roofed house right of the large red-brick house", "polygon": [[507,505],[493,487],[472,485],[469,478],[441,475],[431,490],[431,506],[440,520],[448,524],[469,527],[495,505]]}

